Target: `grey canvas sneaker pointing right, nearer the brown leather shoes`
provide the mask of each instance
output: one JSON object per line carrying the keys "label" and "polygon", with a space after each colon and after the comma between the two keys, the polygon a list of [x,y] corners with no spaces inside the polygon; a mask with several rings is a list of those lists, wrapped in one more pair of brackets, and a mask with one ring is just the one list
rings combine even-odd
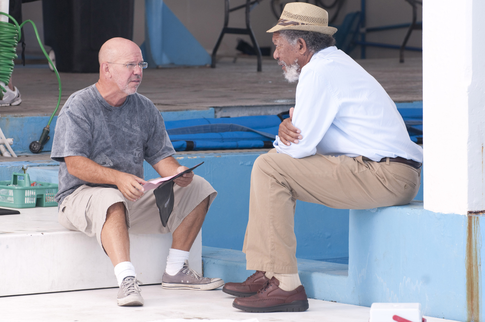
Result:
{"label": "grey canvas sneaker pointing right, nearer the brown leather shoes", "polygon": [[186,260],[182,269],[174,276],[163,272],[162,288],[176,290],[214,290],[224,285],[220,278],[202,277],[189,267]]}

